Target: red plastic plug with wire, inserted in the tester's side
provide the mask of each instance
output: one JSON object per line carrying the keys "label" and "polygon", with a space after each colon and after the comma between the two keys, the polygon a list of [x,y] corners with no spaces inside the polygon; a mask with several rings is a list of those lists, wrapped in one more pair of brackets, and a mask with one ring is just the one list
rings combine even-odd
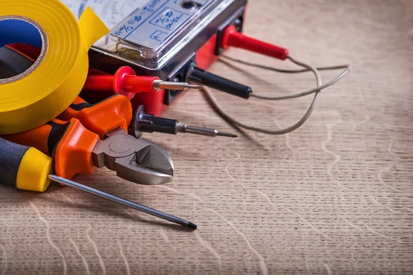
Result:
{"label": "red plastic plug with wire, inserted in the tester's side", "polygon": [[257,52],[258,54],[264,54],[281,60],[286,60],[288,57],[288,50],[248,37],[238,32],[234,25],[230,25],[224,30],[221,45],[224,49],[228,47],[240,47],[244,50]]}

